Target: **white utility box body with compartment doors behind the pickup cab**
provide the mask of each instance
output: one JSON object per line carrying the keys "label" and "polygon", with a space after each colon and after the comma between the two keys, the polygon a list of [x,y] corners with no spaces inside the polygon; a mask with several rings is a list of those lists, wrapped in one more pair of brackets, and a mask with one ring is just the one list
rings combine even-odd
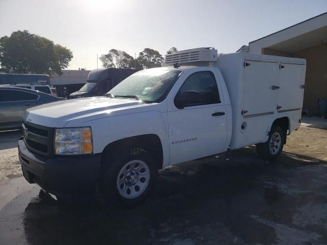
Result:
{"label": "white utility box body with compartment doors behind the pickup cab", "polygon": [[[265,142],[275,119],[287,117],[289,134],[300,126],[306,60],[249,53],[222,54],[232,107],[230,149]],[[245,129],[242,124],[245,123]]]}

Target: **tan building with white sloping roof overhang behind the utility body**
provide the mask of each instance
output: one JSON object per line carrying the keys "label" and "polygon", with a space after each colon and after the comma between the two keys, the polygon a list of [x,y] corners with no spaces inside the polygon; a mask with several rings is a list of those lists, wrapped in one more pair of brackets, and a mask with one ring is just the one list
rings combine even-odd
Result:
{"label": "tan building with white sloping roof overhang behind the utility body", "polygon": [[327,12],[254,40],[245,52],[305,58],[303,109],[316,112],[319,98],[327,98]]}

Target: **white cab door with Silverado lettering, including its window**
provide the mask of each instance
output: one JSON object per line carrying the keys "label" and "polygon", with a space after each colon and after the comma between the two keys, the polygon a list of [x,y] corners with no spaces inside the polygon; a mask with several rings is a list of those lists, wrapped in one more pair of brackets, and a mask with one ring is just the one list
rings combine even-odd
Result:
{"label": "white cab door with Silverado lettering, including its window", "polygon": [[[193,69],[194,70],[194,69]],[[216,71],[184,71],[168,96],[170,164],[225,151],[227,108]]]}

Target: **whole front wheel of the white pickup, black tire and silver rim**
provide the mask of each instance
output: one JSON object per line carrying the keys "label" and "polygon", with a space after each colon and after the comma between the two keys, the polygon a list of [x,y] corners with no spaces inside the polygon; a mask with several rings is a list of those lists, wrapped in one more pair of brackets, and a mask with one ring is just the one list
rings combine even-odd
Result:
{"label": "whole front wheel of the white pickup, black tire and silver rim", "polygon": [[102,187],[106,201],[128,207],[144,202],[157,178],[153,158],[126,152],[107,164]]}

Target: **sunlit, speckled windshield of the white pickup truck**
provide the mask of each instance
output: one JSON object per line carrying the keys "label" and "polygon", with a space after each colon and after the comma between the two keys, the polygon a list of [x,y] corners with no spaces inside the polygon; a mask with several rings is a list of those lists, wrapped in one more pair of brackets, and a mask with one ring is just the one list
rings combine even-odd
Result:
{"label": "sunlit, speckled windshield of the white pickup truck", "polygon": [[155,102],[164,96],[181,71],[154,68],[142,70],[129,76],[107,94],[116,97],[137,97],[144,102]]}

